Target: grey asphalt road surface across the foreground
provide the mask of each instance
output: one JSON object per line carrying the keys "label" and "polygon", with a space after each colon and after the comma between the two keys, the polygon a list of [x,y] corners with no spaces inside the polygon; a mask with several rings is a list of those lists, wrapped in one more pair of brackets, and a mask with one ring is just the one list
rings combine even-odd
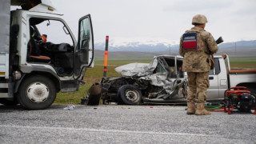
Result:
{"label": "grey asphalt road surface across the foreground", "polygon": [[187,115],[185,106],[0,105],[0,143],[256,143],[256,115]]}

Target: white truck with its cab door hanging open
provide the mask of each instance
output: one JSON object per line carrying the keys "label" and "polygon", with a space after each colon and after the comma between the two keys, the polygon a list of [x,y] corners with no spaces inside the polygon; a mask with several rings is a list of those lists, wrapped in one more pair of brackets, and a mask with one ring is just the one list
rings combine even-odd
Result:
{"label": "white truck with its cab door hanging open", "polygon": [[50,0],[1,1],[0,103],[42,110],[57,92],[85,83],[86,68],[94,66],[90,14],[79,19],[78,42],[62,17]]}

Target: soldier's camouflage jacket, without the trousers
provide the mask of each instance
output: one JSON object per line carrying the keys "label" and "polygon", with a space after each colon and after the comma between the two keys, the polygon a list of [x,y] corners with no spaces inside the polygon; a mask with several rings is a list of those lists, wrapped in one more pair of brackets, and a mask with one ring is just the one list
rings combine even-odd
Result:
{"label": "soldier's camouflage jacket, without the trousers", "polygon": [[186,30],[185,34],[191,32],[198,34],[198,50],[183,50],[183,38],[181,37],[179,54],[184,57],[182,70],[186,72],[209,72],[211,65],[210,53],[214,54],[218,51],[214,37],[206,30],[198,27]]}

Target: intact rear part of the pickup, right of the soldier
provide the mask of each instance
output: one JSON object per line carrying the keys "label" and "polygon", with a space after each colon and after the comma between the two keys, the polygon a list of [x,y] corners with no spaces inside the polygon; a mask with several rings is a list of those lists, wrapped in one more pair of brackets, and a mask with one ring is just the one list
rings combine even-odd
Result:
{"label": "intact rear part of the pickup, right of the soldier", "polygon": [[228,54],[214,58],[215,68],[209,75],[210,88],[207,92],[209,100],[222,100],[225,90],[234,86],[246,86],[252,93],[256,93],[256,70],[231,70]]}

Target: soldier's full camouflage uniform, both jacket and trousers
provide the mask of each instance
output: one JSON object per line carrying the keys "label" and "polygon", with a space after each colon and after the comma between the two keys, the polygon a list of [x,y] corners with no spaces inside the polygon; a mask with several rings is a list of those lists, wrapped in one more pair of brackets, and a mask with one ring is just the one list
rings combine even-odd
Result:
{"label": "soldier's full camouflage uniform, both jacket and trousers", "polygon": [[210,53],[216,53],[218,46],[213,36],[203,28],[194,26],[185,32],[185,34],[187,33],[197,34],[198,47],[197,50],[184,50],[183,37],[180,40],[179,54],[184,57],[182,70],[188,74],[187,102],[188,104],[189,102],[194,103],[195,99],[198,98],[198,103],[204,103],[209,87]]}

